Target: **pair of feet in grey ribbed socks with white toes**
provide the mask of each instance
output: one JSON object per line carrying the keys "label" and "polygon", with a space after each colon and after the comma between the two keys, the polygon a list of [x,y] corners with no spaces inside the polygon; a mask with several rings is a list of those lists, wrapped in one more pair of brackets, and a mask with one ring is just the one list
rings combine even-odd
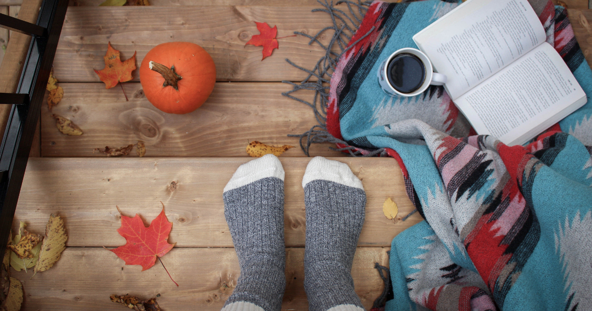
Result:
{"label": "pair of feet in grey ribbed socks with white toes", "polygon": [[[351,275],[365,215],[362,182],[345,163],[317,156],[302,184],[309,310],[363,311]],[[241,165],[223,196],[240,277],[222,310],[280,310],[286,286],[282,164],[265,155]]]}

